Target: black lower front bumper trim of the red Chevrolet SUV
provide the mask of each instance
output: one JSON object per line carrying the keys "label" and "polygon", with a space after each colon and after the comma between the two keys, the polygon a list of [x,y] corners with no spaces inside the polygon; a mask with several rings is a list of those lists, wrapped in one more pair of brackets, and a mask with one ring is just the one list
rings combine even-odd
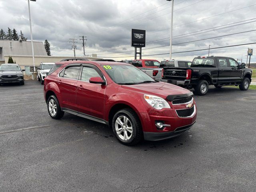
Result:
{"label": "black lower front bumper trim of the red Chevrolet SUV", "polygon": [[194,123],[187,125],[187,126],[182,126],[182,127],[176,128],[174,131],[171,131],[171,132],[157,132],[157,133],[156,132],[143,132],[144,139],[148,140],[148,141],[159,141],[159,140],[173,138],[173,137],[183,134],[184,132],[187,132],[194,125]]}

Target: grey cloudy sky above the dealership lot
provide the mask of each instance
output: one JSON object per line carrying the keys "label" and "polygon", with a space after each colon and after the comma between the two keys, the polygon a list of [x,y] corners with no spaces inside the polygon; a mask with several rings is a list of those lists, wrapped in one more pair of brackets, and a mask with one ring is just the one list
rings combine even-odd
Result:
{"label": "grey cloudy sky above the dealership lot", "polygon": [[[169,52],[170,45],[170,6],[166,0],[37,0],[30,2],[33,38],[48,39],[54,56],[73,56],[69,38],[77,38],[76,55],[82,56],[79,36],[84,35],[86,54],[121,60],[134,56],[131,29],[144,29],[148,43],[142,48],[142,55],[163,55],[143,58],[168,59],[164,53]],[[247,32],[256,30],[255,10],[255,0],[174,0],[172,44],[176,45],[172,52],[207,49],[209,44],[216,48],[256,42],[256,31]],[[1,0],[0,12],[0,28],[22,30],[30,39],[25,0]],[[243,55],[246,61],[248,47],[254,48],[256,55],[256,44],[213,49],[210,55],[236,59]],[[198,55],[208,55],[208,50],[175,53],[172,58],[192,60]],[[256,62],[256,57],[251,60]]]}

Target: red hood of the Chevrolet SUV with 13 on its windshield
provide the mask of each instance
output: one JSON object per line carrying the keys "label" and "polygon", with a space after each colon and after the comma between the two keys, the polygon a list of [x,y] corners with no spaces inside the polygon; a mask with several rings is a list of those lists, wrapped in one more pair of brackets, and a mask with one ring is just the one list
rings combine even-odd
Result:
{"label": "red hood of the Chevrolet SUV with 13 on its windshield", "polygon": [[122,85],[122,88],[141,92],[142,94],[156,95],[162,98],[166,98],[168,95],[180,95],[190,93],[190,90],[165,82]]}

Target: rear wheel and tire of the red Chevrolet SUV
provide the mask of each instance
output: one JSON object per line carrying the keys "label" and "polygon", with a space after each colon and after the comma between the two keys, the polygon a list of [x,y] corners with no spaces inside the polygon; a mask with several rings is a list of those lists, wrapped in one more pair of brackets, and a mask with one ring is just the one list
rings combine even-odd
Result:
{"label": "rear wheel and tire of the red Chevrolet SUV", "polygon": [[61,110],[60,104],[56,96],[51,95],[47,101],[48,113],[53,119],[60,119],[64,115],[64,111]]}

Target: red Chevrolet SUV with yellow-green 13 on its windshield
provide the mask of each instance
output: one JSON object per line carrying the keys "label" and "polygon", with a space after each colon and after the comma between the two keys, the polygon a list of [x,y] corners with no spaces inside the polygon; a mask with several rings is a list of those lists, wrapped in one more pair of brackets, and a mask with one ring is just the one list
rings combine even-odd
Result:
{"label": "red Chevrolet SUV with yellow-green 13 on its windshield", "polygon": [[126,145],[178,136],[196,121],[192,92],[126,63],[57,62],[44,79],[44,98],[52,118],[68,112],[107,124]]}

